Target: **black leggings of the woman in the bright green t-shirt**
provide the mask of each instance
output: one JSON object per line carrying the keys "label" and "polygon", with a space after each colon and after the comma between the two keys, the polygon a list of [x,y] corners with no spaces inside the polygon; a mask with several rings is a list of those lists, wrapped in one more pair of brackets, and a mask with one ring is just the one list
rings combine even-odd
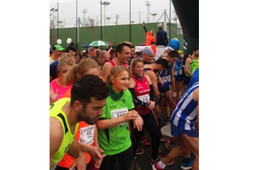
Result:
{"label": "black leggings of the woman in the bright green t-shirt", "polygon": [[135,155],[132,150],[132,146],[124,152],[120,152],[116,155],[107,155],[103,158],[102,164],[99,170],[110,170],[114,169],[116,158],[120,163],[122,170],[134,170],[135,169]]}

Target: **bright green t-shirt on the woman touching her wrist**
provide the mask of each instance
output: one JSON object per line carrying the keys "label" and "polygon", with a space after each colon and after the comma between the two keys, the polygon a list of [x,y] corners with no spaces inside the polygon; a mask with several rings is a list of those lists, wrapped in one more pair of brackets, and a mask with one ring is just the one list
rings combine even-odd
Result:
{"label": "bright green t-shirt on the woman touching her wrist", "polygon": [[[103,115],[99,118],[111,119],[119,117],[134,109],[134,107],[132,94],[129,90],[124,90],[124,95],[118,101],[114,101],[108,96],[103,108]],[[113,128],[98,129],[99,148],[104,150],[103,154],[115,155],[127,150],[132,145],[127,123],[121,123]]]}

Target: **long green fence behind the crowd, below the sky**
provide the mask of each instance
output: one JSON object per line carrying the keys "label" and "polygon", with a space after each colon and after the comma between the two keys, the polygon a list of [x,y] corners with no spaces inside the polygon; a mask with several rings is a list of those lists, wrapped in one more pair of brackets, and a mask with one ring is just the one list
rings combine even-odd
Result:
{"label": "long green fence behind the crowd, below the sky", "polygon": [[[155,34],[157,34],[157,23],[146,23],[146,29],[150,31],[154,30]],[[131,30],[130,30],[131,28]],[[165,29],[165,28],[164,28]],[[102,34],[101,34],[102,30]],[[181,42],[181,50],[183,50],[183,35],[177,34],[177,24],[171,23],[170,28],[167,25],[167,35],[170,34],[170,39],[178,38]],[[59,34],[58,34],[59,31]],[[72,42],[74,42],[75,47],[78,45],[78,50],[85,50],[81,46],[86,43],[91,43],[95,40],[103,40],[105,42],[114,42],[118,45],[120,42],[132,42],[132,45],[138,46],[140,43],[145,43],[146,34],[143,29],[142,24],[132,24],[129,25],[117,25],[117,26],[96,26],[94,29],[90,27],[79,27],[79,28],[55,28],[50,30],[50,34],[52,35],[50,45],[56,43],[56,40],[61,39],[61,46],[68,47],[67,39],[71,38]],[[77,34],[79,34],[78,39]],[[102,36],[102,39],[101,39]],[[169,39],[169,41],[170,41]],[[78,43],[77,43],[78,40]]]}

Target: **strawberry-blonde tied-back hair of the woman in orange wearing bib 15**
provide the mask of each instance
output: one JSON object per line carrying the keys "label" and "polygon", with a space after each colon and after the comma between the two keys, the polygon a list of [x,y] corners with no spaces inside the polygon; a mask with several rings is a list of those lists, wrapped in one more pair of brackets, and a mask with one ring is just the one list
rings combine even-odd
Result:
{"label": "strawberry-blonde tied-back hair of the woman in orange wearing bib 15", "polygon": [[94,61],[94,59],[84,58],[80,60],[80,62],[77,65],[72,66],[72,68],[69,69],[69,72],[67,72],[67,74],[64,77],[64,82],[67,85],[71,85],[75,82],[75,80],[78,79],[78,74],[80,76],[83,76],[84,74],[86,74],[86,72],[89,72],[89,70],[95,68],[99,69],[99,65],[96,61]]}

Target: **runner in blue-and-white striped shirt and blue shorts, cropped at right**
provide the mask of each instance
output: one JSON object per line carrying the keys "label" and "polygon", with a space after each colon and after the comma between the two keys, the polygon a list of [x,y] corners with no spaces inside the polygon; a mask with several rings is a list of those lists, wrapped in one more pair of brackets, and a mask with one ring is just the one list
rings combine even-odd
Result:
{"label": "runner in blue-and-white striped shirt and blue shorts, cropped at right", "polygon": [[170,122],[171,135],[181,145],[170,150],[165,158],[155,163],[152,168],[154,170],[165,169],[168,162],[191,150],[195,155],[192,169],[199,169],[199,82],[195,82],[184,93],[173,111]]}

